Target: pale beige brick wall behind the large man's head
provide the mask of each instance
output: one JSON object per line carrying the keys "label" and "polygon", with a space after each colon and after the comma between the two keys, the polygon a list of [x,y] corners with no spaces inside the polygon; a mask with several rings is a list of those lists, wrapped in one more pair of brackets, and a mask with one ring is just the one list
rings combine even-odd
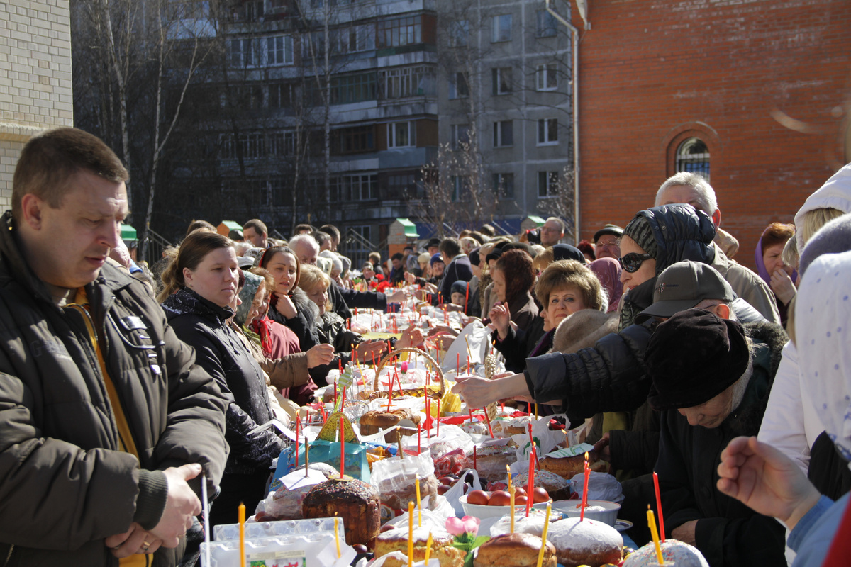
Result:
{"label": "pale beige brick wall behind the large man's head", "polygon": [[73,110],[68,0],[0,1],[0,210],[23,144]]}

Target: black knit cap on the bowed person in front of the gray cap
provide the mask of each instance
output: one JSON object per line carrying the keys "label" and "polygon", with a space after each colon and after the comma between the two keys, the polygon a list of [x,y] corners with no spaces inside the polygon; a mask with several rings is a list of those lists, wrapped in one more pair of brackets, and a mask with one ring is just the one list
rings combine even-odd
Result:
{"label": "black knit cap on the bowed person in front of the gray cap", "polygon": [[745,331],[706,309],[688,309],[653,333],[644,354],[653,386],[654,410],[703,404],[732,386],[747,370],[751,354]]}

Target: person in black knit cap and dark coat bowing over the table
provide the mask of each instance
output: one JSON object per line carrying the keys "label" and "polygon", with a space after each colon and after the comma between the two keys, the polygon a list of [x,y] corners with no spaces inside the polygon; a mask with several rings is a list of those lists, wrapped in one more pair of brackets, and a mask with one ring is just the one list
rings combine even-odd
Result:
{"label": "person in black knit cap and dark coat bowing over the table", "polygon": [[783,526],[716,487],[721,451],[759,430],[774,381],[771,358],[739,323],[705,309],[674,315],[648,343],[648,400],[662,412],[655,471],[665,530],[711,565],[785,564]]}

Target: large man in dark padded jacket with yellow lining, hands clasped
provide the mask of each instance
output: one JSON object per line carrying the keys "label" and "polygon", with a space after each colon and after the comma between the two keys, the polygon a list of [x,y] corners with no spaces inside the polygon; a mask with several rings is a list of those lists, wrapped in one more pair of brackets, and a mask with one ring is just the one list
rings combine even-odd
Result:
{"label": "large man in dark padded jacket with yellow lining, hands clasped", "polygon": [[[144,286],[106,263],[127,171],[100,139],[21,152],[0,230],[0,558],[174,565],[219,483],[226,400]],[[188,481],[188,482],[187,482]]]}

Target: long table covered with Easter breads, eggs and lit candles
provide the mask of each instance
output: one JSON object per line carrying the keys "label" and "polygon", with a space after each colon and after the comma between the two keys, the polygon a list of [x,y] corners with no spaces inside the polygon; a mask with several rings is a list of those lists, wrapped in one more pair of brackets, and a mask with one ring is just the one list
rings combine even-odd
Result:
{"label": "long table covered with Easter breads, eggs and lit candles", "polygon": [[[620,482],[602,445],[583,442],[585,423],[516,400],[468,407],[453,393],[459,378],[505,371],[480,321],[412,302],[348,324],[428,337],[331,371],[293,422],[267,424],[289,446],[266,499],[207,536],[207,567],[708,565],[665,540],[658,488],[647,502],[653,541],[634,548]],[[437,327],[453,340],[436,340]]]}

